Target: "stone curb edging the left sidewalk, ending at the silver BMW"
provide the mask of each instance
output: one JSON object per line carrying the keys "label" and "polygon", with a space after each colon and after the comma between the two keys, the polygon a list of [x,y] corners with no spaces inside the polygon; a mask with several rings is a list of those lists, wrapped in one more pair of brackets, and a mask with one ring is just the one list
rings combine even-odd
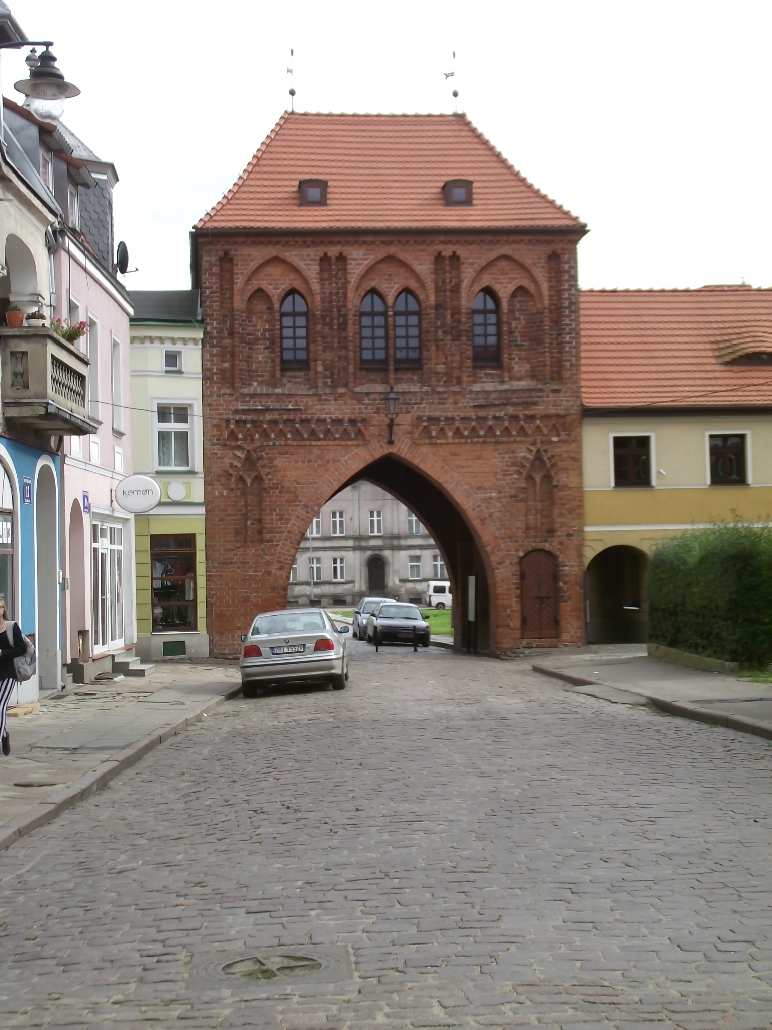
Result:
{"label": "stone curb edging the left sidewalk, ending at the silver BMW", "polygon": [[66,812],[67,809],[71,809],[74,804],[77,804],[78,801],[91,797],[92,794],[95,794],[102,787],[107,786],[116,776],[120,776],[121,772],[130,766],[135,765],[150,751],[153,751],[160,745],[164,744],[165,741],[168,741],[170,736],[181,733],[183,729],[198,722],[207,712],[216,708],[221,701],[230,700],[230,698],[235,697],[240,692],[241,683],[238,686],[232,687],[224,694],[210,697],[201,708],[178,719],[177,722],[148,733],[147,736],[141,737],[134,744],[129,745],[128,748],[117,751],[111,758],[102,762],[95,769],[91,769],[89,772],[83,774],[83,776],[78,777],[77,780],[73,780],[66,787],[54,791],[52,794],[49,794],[42,801],[38,801],[30,812],[23,812],[15,819],[10,819],[7,823],[3,823],[0,825],[0,851],[5,851],[6,848],[9,848],[21,837],[27,836],[28,833],[32,833],[38,827],[52,822],[63,812]]}

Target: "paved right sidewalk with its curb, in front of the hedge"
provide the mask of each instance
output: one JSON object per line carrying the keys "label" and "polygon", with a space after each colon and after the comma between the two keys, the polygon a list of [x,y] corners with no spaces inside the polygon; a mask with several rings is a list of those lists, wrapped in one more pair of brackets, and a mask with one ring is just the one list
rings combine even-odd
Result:
{"label": "paved right sidewalk with its curb, in front of the hedge", "polygon": [[672,715],[772,740],[771,685],[650,658],[645,645],[597,646],[588,653],[546,656],[531,667],[577,693],[618,703],[651,701]]}

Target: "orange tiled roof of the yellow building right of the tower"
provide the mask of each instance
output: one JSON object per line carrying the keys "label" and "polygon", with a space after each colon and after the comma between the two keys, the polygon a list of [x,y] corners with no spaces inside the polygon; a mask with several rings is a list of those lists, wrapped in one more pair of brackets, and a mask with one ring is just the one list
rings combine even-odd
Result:
{"label": "orange tiled roof of the yellow building right of the tower", "polygon": [[772,289],[584,289],[586,409],[772,407]]}

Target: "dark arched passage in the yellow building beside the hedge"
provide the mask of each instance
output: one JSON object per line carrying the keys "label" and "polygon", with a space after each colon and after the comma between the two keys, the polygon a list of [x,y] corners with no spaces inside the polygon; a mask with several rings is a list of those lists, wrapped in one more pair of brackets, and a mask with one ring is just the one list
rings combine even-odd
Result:
{"label": "dark arched passage in the yellow building beside the hedge", "polygon": [[645,644],[648,558],[636,547],[618,545],[596,554],[587,566],[587,643]]}

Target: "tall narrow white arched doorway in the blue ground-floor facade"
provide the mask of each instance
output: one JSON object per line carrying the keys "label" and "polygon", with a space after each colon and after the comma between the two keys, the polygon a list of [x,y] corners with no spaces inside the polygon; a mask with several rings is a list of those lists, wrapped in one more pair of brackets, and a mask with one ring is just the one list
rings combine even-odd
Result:
{"label": "tall narrow white arched doorway in the blue ground-floor facade", "polygon": [[35,484],[35,647],[40,690],[58,689],[61,679],[57,543],[57,481],[51,467],[43,465]]}

